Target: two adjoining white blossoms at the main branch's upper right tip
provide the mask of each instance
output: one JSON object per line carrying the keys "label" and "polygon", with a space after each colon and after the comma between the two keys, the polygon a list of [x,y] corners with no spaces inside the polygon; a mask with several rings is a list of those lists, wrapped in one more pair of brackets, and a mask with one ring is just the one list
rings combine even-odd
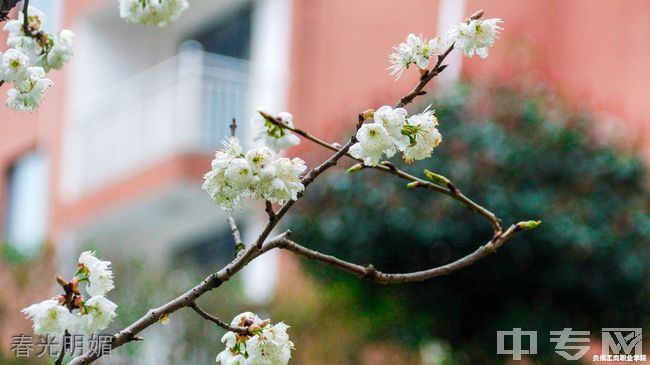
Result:
{"label": "two adjoining white blossoms at the main branch's upper right tip", "polygon": [[410,65],[416,65],[420,70],[426,70],[429,67],[430,60],[435,55],[442,54],[444,47],[454,44],[454,48],[459,49],[472,57],[474,53],[481,58],[488,56],[488,48],[494,44],[495,38],[502,29],[498,26],[501,19],[469,19],[458,25],[451,26],[447,32],[447,38],[441,39],[435,37],[427,41],[422,35],[409,34],[406,41],[393,47],[395,52],[388,56],[391,75],[399,78],[404,70]]}

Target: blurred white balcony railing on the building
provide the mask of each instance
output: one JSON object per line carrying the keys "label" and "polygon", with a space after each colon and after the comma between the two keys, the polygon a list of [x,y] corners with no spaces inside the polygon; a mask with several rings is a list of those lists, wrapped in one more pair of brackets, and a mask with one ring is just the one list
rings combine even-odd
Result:
{"label": "blurred white balcony railing on the building", "polygon": [[[247,61],[183,51],[71,115],[65,195],[78,198],[170,157],[213,151],[247,120]],[[241,125],[242,123],[240,123]]]}

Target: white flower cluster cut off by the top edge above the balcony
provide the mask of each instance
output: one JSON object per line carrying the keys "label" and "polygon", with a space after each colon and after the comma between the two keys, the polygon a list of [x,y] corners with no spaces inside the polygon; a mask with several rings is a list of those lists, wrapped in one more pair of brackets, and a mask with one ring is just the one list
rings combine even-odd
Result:
{"label": "white flower cluster cut off by the top edge above the balcony", "polygon": [[188,7],[187,0],[120,0],[120,17],[131,23],[164,27]]}

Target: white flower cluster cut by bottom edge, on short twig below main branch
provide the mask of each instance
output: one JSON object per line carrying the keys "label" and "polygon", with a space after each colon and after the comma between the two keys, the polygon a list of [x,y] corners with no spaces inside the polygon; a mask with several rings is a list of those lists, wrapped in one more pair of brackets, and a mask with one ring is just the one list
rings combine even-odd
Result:
{"label": "white flower cluster cut by bottom edge, on short twig below main branch", "polygon": [[291,358],[293,342],[289,340],[289,326],[280,322],[271,324],[257,315],[245,312],[236,316],[232,326],[247,327],[247,334],[227,332],[221,342],[226,349],[217,355],[221,365],[285,365]]}

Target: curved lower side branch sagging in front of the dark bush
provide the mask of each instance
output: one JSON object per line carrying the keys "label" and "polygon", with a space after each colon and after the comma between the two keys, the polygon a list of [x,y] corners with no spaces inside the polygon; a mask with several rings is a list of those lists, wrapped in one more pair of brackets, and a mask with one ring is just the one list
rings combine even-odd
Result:
{"label": "curved lower side branch sagging in front of the dark bush", "polygon": [[529,222],[520,222],[510,226],[505,232],[494,236],[486,244],[480,246],[474,252],[446,265],[434,267],[432,269],[415,271],[410,273],[387,274],[375,269],[372,265],[362,266],[348,261],[341,260],[337,257],[326,255],[318,251],[301,246],[300,244],[284,238],[280,241],[275,241],[273,244],[277,247],[291,251],[297,255],[306,257],[310,260],[320,261],[330,266],[349,271],[362,278],[375,281],[380,284],[401,284],[409,282],[424,281],[438,276],[448,275],[454,271],[472,265],[476,261],[488,256],[495,252],[499,247],[506,243],[517,232],[524,229],[531,229],[534,227],[528,226]]}

